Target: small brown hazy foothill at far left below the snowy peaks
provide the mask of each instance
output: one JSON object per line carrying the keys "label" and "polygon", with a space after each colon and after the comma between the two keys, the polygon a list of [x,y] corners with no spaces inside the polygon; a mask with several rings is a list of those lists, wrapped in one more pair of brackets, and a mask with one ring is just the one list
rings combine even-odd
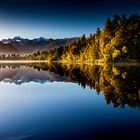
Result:
{"label": "small brown hazy foothill at far left below the snowy peaks", "polygon": [[4,44],[0,42],[0,55],[2,54],[18,54],[19,51],[12,44]]}

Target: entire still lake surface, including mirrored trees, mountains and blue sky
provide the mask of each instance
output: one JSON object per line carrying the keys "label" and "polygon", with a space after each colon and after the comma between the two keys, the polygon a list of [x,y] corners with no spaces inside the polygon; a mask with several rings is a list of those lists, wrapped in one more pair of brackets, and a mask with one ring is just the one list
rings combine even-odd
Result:
{"label": "entire still lake surface, including mirrored trees, mountains and blue sky", "polygon": [[136,138],[140,67],[0,65],[1,140]]}

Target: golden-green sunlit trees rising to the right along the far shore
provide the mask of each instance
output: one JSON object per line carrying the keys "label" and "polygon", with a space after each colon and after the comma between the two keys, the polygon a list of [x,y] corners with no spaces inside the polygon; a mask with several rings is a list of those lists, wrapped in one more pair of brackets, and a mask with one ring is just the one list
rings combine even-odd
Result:
{"label": "golden-green sunlit trees rising to the right along the far shore", "polygon": [[97,28],[89,37],[83,35],[65,48],[55,48],[30,55],[28,59],[62,62],[139,61],[140,16],[114,15],[108,18],[103,30]]}

